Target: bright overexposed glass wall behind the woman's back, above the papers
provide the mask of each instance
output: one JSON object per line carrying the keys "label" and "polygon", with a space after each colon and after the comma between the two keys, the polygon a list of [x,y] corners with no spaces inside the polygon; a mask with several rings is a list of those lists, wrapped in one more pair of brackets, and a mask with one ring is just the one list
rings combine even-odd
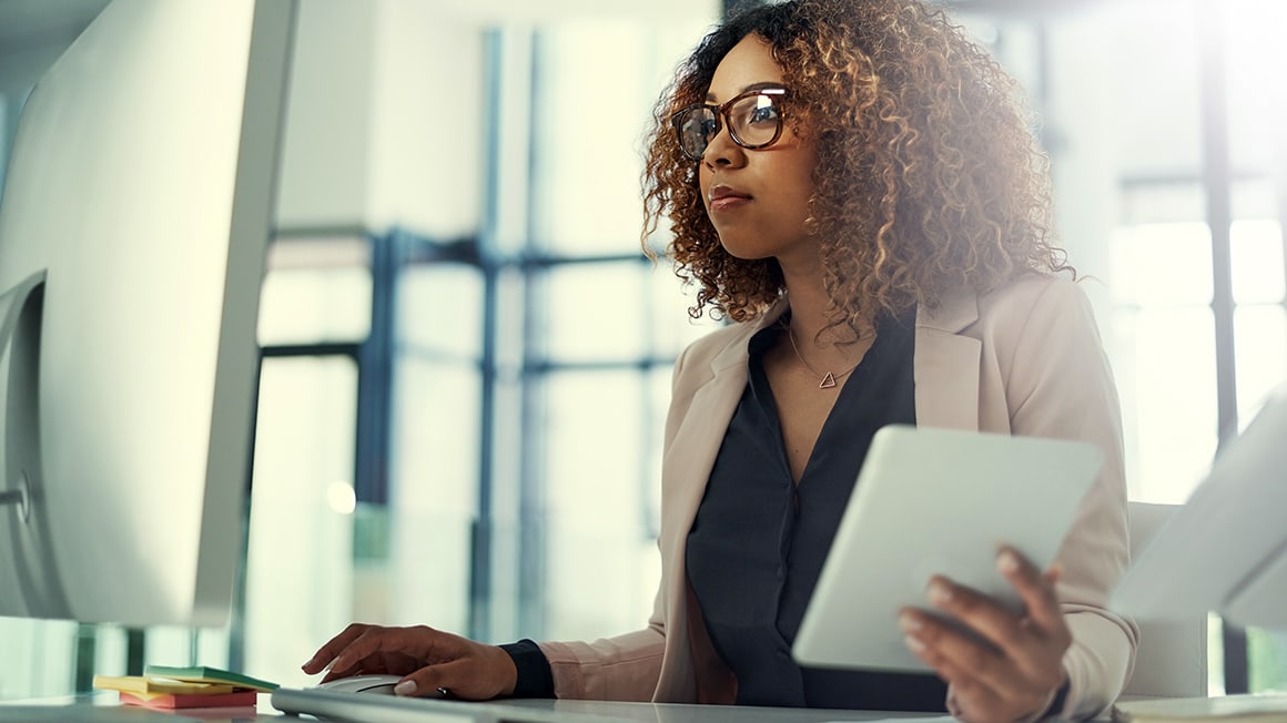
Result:
{"label": "bright overexposed glass wall behind the woman's back, above the papers", "polygon": [[[1033,26],[1060,229],[1094,277],[1133,499],[1184,502],[1287,381],[1287,105],[1272,69],[1287,58],[1268,30],[1284,10],[1115,3]],[[1287,687],[1281,637],[1215,620],[1214,692]]]}

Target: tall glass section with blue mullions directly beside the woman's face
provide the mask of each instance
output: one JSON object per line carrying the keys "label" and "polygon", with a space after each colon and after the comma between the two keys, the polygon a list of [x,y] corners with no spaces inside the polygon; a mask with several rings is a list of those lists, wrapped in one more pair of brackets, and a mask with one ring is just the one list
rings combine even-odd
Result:
{"label": "tall glass section with blue mullions directly beside the woman's face", "polygon": [[[651,611],[669,367],[710,324],[689,322],[677,279],[640,251],[641,143],[708,22],[593,18],[492,36],[497,198],[483,260],[495,367],[481,497],[493,536],[476,561],[489,593],[479,637],[601,637]],[[614,58],[614,71],[586,58]]]}

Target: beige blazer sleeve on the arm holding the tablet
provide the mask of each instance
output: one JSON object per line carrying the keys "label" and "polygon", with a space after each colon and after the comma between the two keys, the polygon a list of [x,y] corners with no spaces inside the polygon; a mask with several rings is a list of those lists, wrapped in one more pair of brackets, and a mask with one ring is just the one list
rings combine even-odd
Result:
{"label": "beige blazer sleeve on the arm holding the tablet", "polygon": [[1012,434],[1089,441],[1104,453],[1058,558],[1058,594],[1072,632],[1064,655],[1062,718],[1112,705],[1134,664],[1139,629],[1108,611],[1112,585],[1130,563],[1121,407],[1094,313],[1076,284],[1044,284],[1013,342],[1005,394]]}

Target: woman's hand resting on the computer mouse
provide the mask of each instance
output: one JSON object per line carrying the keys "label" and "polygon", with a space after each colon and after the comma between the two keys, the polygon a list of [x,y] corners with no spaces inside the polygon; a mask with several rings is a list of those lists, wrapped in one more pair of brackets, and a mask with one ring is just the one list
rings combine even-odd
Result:
{"label": "woman's hand resting on the computer mouse", "polygon": [[358,674],[402,675],[400,696],[489,700],[514,692],[519,672],[498,646],[425,625],[387,628],[354,623],[331,638],[302,665],[308,674],[327,672],[322,682]]}

